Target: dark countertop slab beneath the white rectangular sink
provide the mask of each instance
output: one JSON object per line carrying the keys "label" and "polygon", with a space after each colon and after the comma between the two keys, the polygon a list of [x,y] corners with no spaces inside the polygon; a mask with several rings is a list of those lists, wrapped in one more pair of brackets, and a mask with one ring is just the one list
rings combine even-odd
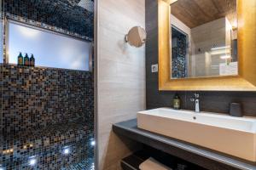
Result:
{"label": "dark countertop slab beneath the white rectangular sink", "polygon": [[113,132],[210,170],[256,170],[256,163],[243,161],[194,144],[139,129],[137,119],[113,124]]}

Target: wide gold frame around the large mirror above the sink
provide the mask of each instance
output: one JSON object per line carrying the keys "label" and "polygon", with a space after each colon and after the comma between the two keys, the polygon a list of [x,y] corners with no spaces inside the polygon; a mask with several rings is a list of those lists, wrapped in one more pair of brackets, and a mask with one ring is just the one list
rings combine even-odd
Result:
{"label": "wide gold frame around the large mirror above the sink", "polygon": [[172,0],[158,0],[159,90],[256,91],[256,1],[237,0],[238,76],[171,79]]}

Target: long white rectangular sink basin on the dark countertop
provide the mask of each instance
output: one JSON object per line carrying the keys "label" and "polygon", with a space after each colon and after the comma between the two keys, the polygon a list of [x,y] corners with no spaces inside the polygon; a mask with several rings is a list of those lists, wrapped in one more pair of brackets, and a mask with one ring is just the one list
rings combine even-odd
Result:
{"label": "long white rectangular sink basin on the dark countertop", "polygon": [[256,119],[167,108],[140,111],[137,126],[247,161],[256,161]]}

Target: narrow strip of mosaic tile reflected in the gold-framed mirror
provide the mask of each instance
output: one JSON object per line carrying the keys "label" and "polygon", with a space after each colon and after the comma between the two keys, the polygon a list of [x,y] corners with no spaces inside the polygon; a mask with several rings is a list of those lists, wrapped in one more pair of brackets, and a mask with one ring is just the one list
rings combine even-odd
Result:
{"label": "narrow strip of mosaic tile reflected in the gold-framed mirror", "polygon": [[172,47],[172,78],[187,77],[187,38],[172,28],[172,39],[176,39],[176,47]]}

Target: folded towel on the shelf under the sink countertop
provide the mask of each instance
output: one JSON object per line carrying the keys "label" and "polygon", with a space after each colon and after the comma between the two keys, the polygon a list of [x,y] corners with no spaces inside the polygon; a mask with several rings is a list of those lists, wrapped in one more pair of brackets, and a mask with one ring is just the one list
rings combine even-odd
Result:
{"label": "folded towel on the shelf under the sink countertop", "polygon": [[149,157],[148,160],[143,161],[139,168],[140,170],[172,170],[172,168],[166,167],[159,161],[154,160],[152,157]]}

